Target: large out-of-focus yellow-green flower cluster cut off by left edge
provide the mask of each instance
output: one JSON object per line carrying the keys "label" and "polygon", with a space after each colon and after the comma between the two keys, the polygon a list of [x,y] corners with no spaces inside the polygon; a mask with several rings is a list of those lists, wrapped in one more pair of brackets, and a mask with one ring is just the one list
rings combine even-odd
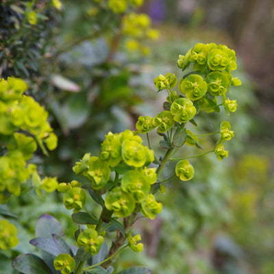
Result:
{"label": "large out-of-focus yellow-green flower cluster cut off by left edge", "polygon": [[[27,160],[32,158],[37,144],[46,154],[47,149],[57,146],[57,137],[47,121],[47,111],[32,97],[23,95],[25,90],[27,84],[23,79],[0,79],[0,142],[7,149],[0,157],[1,203],[11,194],[20,195],[21,184],[36,171],[34,165],[28,168]],[[49,184],[45,184],[46,188],[49,190]]]}

